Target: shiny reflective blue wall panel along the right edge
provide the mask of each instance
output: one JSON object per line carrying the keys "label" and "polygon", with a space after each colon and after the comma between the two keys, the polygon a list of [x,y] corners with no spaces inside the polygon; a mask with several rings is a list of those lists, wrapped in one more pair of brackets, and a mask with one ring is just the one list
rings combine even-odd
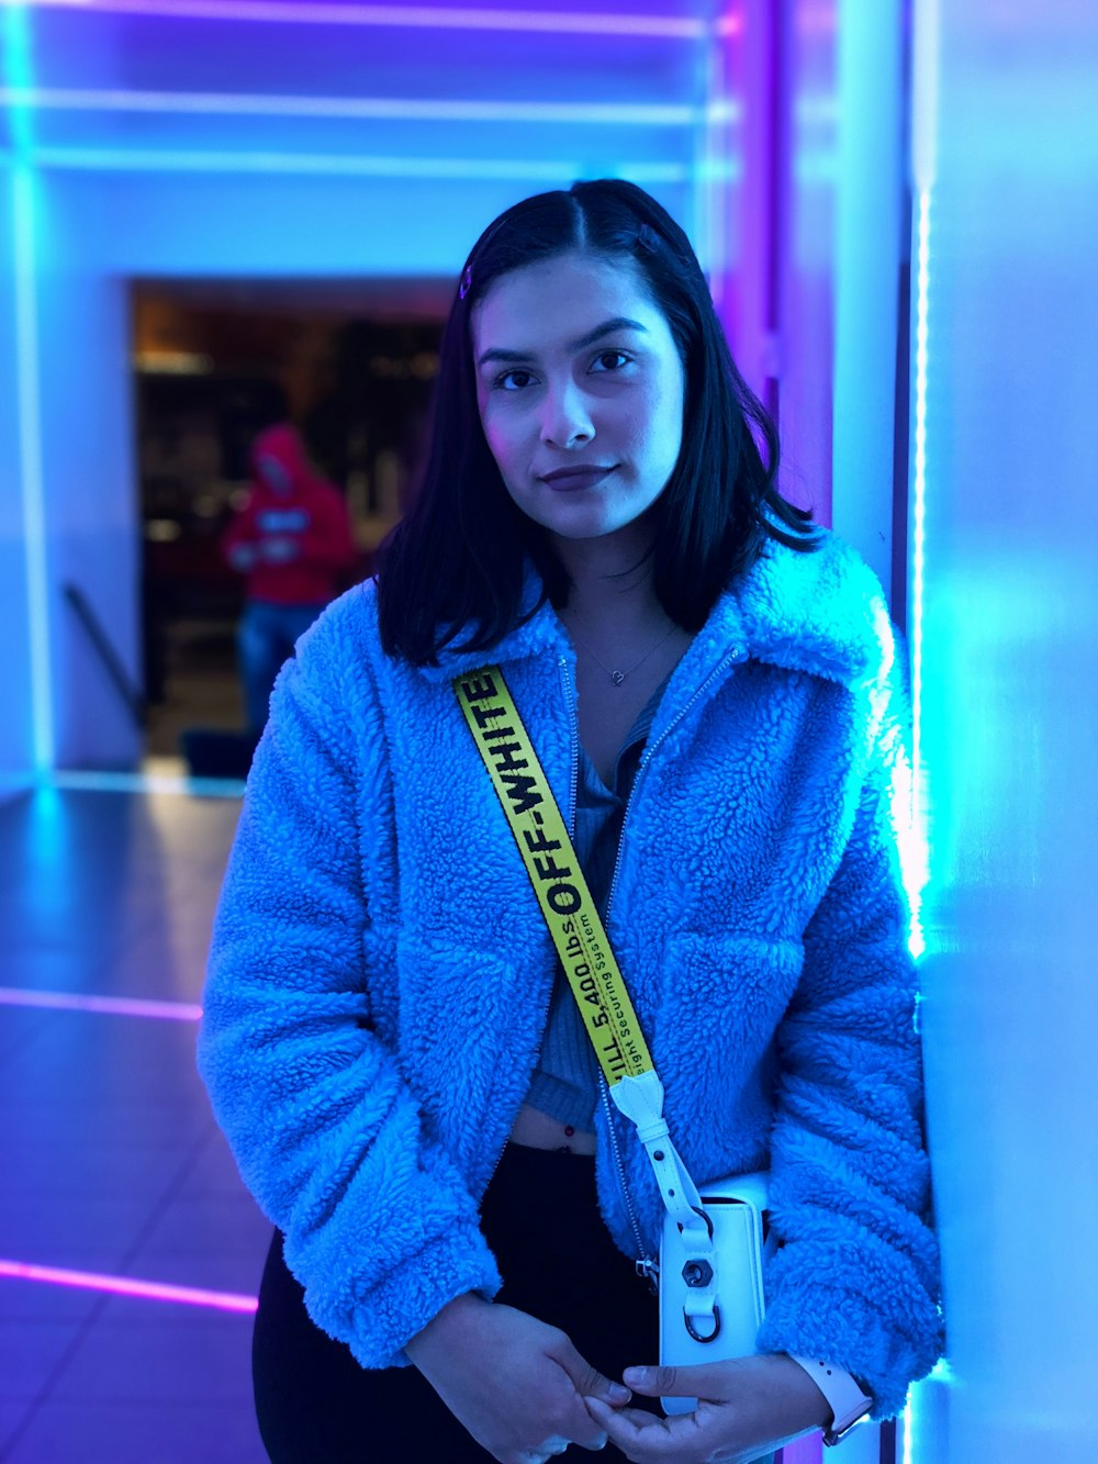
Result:
{"label": "shiny reflective blue wall panel along the right edge", "polygon": [[921,0],[915,606],[952,1386],[915,1458],[1098,1454],[1098,9]]}

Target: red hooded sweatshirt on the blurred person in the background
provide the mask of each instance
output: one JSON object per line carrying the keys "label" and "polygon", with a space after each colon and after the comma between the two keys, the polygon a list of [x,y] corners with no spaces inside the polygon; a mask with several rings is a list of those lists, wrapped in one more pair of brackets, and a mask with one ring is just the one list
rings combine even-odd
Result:
{"label": "red hooded sweatshirt on the blurred person in the background", "polygon": [[[264,458],[277,467],[264,468]],[[347,504],[309,467],[294,427],[268,427],[252,444],[252,489],[221,537],[221,553],[247,575],[249,600],[274,605],[326,603],[354,568]]]}

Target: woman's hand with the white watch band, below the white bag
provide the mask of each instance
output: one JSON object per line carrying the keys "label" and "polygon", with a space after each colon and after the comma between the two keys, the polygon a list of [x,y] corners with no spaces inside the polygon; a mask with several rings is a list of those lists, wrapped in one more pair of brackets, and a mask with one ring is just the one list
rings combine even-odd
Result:
{"label": "woman's hand with the white watch band, below the white bag", "polygon": [[824,1395],[783,1353],[698,1367],[627,1367],[625,1381],[646,1397],[698,1400],[694,1413],[673,1419],[587,1400],[591,1417],[635,1464],[752,1464],[832,1420]]}

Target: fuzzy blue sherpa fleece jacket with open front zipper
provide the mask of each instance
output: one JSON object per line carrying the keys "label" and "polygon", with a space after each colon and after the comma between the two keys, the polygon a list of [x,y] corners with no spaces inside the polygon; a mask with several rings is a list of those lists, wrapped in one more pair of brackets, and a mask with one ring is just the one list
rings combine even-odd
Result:
{"label": "fuzzy blue sherpa fleece jacket with open front zipper", "polygon": [[[574,657],[543,605],[490,656],[386,657],[372,586],[299,641],[215,922],[199,1061],[313,1321],[366,1367],[501,1284],[477,1224],[555,957],[449,681],[501,665],[568,817]],[[887,1417],[938,1354],[921,1063],[897,854],[903,735],[871,572],[770,545],[675,669],[608,931],[698,1181],[770,1167],[783,1241],[760,1350],[862,1379]],[[662,1205],[597,1111],[605,1221]]]}

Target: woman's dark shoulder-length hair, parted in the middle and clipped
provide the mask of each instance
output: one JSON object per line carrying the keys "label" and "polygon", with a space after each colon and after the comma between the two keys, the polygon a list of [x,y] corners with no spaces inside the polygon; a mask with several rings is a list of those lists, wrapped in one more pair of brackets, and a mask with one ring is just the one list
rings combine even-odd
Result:
{"label": "woman's dark shoulder-length hair, parted in the middle and clipped", "polygon": [[[435,663],[455,638],[463,650],[490,650],[546,597],[567,603],[564,567],[546,531],[512,502],[485,439],[470,319],[501,275],[572,250],[631,261],[682,357],[682,448],[653,505],[654,590],[668,615],[698,630],[767,539],[814,548],[811,514],[777,492],[777,433],[736,370],[685,233],[634,183],[575,183],[508,208],[466,261],[442,337],[420,489],[379,559],[381,637],[391,656]],[[533,609],[524,600],[530,561],[543,587]]]}

